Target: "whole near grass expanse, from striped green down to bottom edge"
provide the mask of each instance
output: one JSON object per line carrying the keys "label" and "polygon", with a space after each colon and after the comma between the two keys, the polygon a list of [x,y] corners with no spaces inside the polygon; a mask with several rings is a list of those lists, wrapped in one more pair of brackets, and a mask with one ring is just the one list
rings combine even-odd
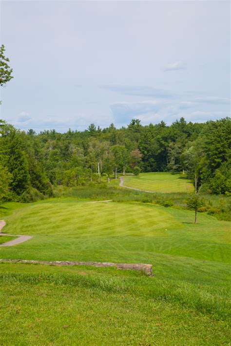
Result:
{"label": "whole near grass expanse, from striped green down to bottom edge", "polygon": [[229,222],[76,198],[0,211],[4,233],[33,236],[0,258],[151,263],[155,274],[0,264],[0,345],[229,344]]}

